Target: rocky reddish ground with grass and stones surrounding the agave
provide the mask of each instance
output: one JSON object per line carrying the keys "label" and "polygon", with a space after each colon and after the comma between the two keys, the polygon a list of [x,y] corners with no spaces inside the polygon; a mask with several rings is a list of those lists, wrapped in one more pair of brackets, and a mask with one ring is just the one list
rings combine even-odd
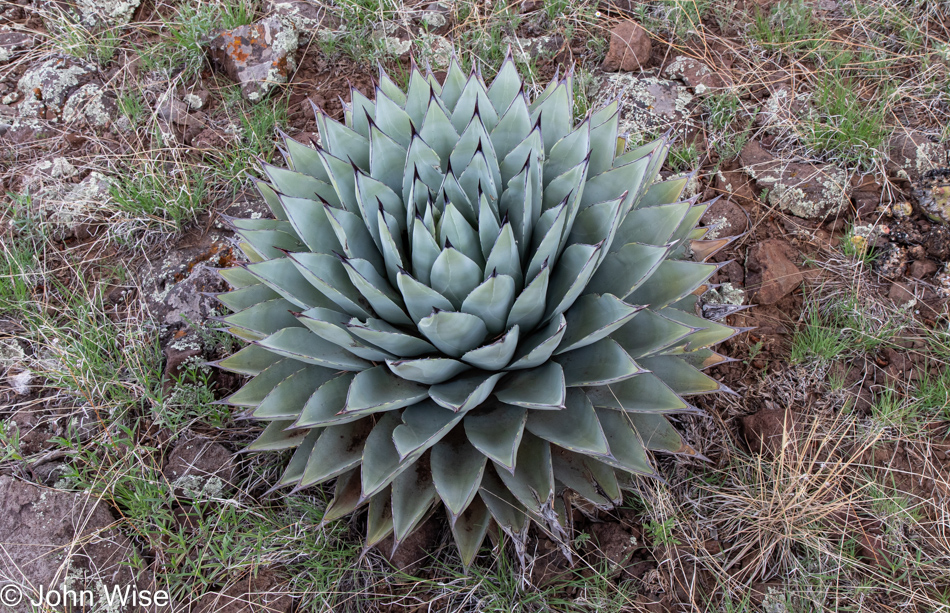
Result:
{"label": "rocky reddish ground with grass and stones surrounding the agave", "polygon": [[[4,0],[0,3],[0,586],[165,590],[175,611],[950,610],[950,13],[907,0]],[[394,557],[204,363],[267,215],[255,160],[453,51],[579,115],[670,131],[724,239],[709,318],[749,328],[623,508],[466,574],[443,519]],[[693,172],[695,171],[695,172]],[[754,305],[754,306],[753,306]],[[752,308],[747,308],[752,307]],[[0,604],[0,607],[4,606]],[[152,607],[153,610],[169,610]],[[7,609],[4,609],[7,610]],[[11,611],[30,610],[23,604]],[[127,610],[132,610],[127,607]]]}

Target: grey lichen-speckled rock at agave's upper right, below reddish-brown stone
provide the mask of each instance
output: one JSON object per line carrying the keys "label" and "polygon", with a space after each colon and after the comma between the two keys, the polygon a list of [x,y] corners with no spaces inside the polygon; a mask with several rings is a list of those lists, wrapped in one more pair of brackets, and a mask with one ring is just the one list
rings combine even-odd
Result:
{"label": "grey lichen-speckled rock at agave's upper right, below reddish-brown stone", "polygon": [[[622,95],[621,95],[622,94]],[[676,81],[618,73],[604,78],[598,103],[620,97],[620,133],[647,134],[682,129],[693,95]]]}

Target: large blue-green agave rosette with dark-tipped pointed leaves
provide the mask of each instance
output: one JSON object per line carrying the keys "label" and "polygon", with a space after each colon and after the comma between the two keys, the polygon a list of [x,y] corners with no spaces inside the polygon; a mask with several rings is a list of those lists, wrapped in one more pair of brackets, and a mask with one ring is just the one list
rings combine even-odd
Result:
{"label": "large blue-green agave rosette with dark-tipped pointed leaves", "polygon": [[368,506],[395,546],[441,501],[468,565],[492,520],[560,539],[573,505],[611,508],[667,420],[722,389],[702,368],[736,332],[694,314],[725,241],[695,225],[665,139],[626,151],[618,104],[574,125],[571,75],[534,100],[510,56],[490,86],[382,70],[322,141],[262,164],[274,219],[232,219],[250,263],[222,270],[223,318],[253,376],[227,402],[296,448],[279,486],[335,480],[332,520]]}

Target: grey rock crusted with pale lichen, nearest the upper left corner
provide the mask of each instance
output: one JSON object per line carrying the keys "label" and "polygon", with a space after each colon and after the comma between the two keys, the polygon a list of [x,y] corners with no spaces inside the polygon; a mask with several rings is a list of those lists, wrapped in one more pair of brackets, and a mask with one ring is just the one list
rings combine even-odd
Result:
{"label": "grey rock crusted with pale lichen, nearest the upper left corner", "polygon": [[30,68],[17,82],[23,94],[20,117],[48,118],[48,111],[59,115],[66,100],[92,77],[95,69],[73,58],[52,58]]}

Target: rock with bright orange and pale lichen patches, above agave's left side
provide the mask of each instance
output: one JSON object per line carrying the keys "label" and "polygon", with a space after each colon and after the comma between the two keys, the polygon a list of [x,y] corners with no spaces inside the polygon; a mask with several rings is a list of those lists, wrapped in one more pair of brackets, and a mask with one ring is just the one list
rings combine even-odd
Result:
{"label": "rock with bright orange and pale lichen patches, above agave's left side", "polygon": [[257,102],[286,83],[297,67],[297,30],[277,17],[221,32],[211,41],[211,59]]}

